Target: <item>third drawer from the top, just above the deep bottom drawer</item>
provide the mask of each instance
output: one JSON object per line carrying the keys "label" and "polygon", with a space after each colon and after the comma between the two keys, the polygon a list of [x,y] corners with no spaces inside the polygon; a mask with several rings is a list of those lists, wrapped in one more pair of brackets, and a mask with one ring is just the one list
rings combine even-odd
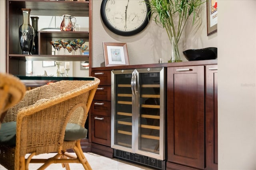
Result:
{"label": "third drawer from the top, just above the deep bottom drawer", "polygon": [[93,115],[111,116],[111,102],[93,100],[91,112]]}

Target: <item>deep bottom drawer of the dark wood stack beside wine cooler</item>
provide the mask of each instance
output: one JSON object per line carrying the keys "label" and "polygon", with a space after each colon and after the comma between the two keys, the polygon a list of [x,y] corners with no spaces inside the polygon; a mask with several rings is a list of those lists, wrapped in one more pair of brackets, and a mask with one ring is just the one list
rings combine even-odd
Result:
{"label": "deep bottom drawer of the dark wood stack beside wine cooler", "polygon": [[111,119],[108,116],[91,115],[92,142],[110,147]]}

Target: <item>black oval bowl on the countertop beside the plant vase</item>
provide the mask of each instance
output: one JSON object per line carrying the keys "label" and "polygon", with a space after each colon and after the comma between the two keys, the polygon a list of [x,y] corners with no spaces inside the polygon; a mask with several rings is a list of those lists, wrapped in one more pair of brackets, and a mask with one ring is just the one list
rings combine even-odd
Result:
{"label": "black oval bowl on the countertop beside the plant vase", "polygon": [[183,54],[188,61],[212,60],[217,59],[217,48],[189,49],[183,51]]}

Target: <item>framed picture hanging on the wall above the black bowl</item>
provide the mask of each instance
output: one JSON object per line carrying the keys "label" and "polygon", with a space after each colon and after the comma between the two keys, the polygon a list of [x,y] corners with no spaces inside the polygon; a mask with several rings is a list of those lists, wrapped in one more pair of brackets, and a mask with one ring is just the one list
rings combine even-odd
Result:
{"label": "framed picture hanging on the wall above the black bowl", "polygon": [[207,36],[217,32],[218,13],[217,0],[207,0]]}

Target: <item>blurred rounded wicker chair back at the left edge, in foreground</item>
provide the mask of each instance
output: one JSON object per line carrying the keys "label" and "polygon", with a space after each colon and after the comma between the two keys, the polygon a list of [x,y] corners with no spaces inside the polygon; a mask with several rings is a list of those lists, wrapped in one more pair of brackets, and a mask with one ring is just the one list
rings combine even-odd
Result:
{"label": "blurred rounded wicker chair back at the left edge, in foreground", "polygon": [[18,103],[26,91],[25,85],[11,74],[0,73],[0,129],[6,110]]}

